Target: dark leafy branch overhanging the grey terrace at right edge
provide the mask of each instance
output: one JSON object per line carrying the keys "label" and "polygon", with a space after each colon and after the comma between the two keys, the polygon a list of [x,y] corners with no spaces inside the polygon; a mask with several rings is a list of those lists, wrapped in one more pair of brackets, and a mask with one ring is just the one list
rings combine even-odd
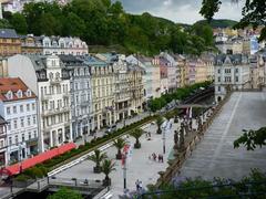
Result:
{"label": "dark leafy branch overhanging the grey terrace at right edge", "polygon": [[262,127],[257,130],[244,129],[243,132],[244,134],[234,142],[234,148],[245,145],[247,150],[254,150],[256,147],[266,145],[266,127]]}

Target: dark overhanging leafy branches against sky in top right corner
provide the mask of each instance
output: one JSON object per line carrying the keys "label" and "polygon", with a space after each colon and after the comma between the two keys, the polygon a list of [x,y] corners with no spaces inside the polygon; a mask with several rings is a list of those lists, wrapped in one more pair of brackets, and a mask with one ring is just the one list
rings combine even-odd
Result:
{"label": "dark overhanging leafy branches against sky in top right corner", "polygon": [[[235,2],[235,0],[232,0]],[[219,10],[221,0],[203,0],[202,9],[200,13],[211,21],[216,12]],[[256,29],[258,25],[263,25],[260,36],[258,41],[266,39],[266,1],[265,0],[246,0],[244,8],[242,9],[243,18],[235,25],[235,28],[246,28],[252,25]]]}

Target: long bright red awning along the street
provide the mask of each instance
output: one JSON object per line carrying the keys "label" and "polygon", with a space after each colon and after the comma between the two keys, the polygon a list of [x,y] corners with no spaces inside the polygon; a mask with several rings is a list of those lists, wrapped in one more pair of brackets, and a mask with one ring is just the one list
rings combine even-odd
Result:
{"label": "long bright red awning along the street", "polygon": [[2,174],[7,174],[8,176],[13,176],[20,172],[20,169],[25,170],[30,167],[33,167],[37,164],[41,164],[48,159],[51,159],[55,156],[59,156],[61,154],[64,154],[71,149],[75,148],[75,144],[74,143],[68,143],[65,145],[62,145],[58,148],[53,148],[51,150],[44,151],[42,154],[39,154],[32,158],[25,159],[22,163],[18,163],[16,165],[6,167],[3,169],[1,169]]}

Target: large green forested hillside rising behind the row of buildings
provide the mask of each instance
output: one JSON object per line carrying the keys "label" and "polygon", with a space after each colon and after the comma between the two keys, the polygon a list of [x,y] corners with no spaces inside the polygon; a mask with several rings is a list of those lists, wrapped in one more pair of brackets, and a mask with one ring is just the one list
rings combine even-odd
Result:
{"label": "large green forested hillside rising behind the row of buildings", "polygon": [[[213,48],[213,32],[207,24],[183,27],[145,12],[129,14],[121,2],[111,0],[72,0],[61,7],[48,2],[28,3],[22,13],[3,13],[0,25],[13,27],[18,33],[80,36],[89,45],[116,46],[123,53],[200,54]],[[91,48],[92,49],[92,48]]]}

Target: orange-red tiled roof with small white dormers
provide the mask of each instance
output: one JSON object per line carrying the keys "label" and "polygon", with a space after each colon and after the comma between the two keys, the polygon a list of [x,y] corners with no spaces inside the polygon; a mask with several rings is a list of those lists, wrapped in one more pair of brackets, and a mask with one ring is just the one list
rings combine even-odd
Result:
{"label": "orange-red tiled roof with small white dormers", "polygon": [[[17,92],[22,91],[22,97],[17,96]],[[19,78],[19,77],[8,77],[8,78],[0,78],[0,101],[18,101],[24,98],[34,98],[35,94],[31,91],[31,96],[27,96],[25,92],[28,91],[28,86]],[[6,97],[6,94],[11,91],[13,94],[12,100]]]}

